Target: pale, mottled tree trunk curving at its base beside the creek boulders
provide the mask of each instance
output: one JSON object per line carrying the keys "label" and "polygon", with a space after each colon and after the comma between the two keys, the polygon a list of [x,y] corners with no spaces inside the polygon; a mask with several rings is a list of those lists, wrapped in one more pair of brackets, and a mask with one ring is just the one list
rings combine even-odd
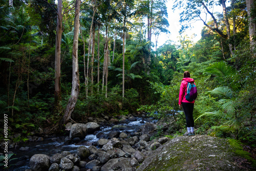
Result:
{"label": "pale, mottled tree trunk curving at its base beside the creek boulders", "polygon": [[79,71],[78,71],[78,34],[79,34],[79,13],[80,13],[80,0],[76,0],[75,6],[75,23],[74,23],[74,39],[73,39],[73,52],[72,52],[72,90],[69,102],[66,107],[65,115],[63,116],[63,124],[68,123],[71,114],[75,109],[76,101],[80,91],[79,84]]}

